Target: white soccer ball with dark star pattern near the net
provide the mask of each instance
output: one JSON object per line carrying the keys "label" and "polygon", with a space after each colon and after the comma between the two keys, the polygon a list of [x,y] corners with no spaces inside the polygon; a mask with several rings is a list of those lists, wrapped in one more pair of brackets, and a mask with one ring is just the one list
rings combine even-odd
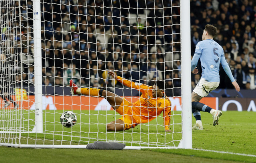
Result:
{"label": "white soccer ball with dark star pattern near the net", "polygon": [[60,116],[60,123],[64,127],[72,127],[76,124],[76,115],[72,111],[65,111]]}

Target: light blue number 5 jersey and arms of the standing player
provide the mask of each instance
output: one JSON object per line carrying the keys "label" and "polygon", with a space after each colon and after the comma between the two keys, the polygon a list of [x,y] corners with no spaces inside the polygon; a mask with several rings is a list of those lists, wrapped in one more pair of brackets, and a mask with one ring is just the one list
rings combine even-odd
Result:
{"label": "light blue number 5 jersey and arms of the standing player", "polygon": [[196,51],[191,61],[191,70],[196,68],[200,58],[202,66],[202,77],[208,82],[220,82],[220,63],[231,81],[234,77],[225,60],[223,48],[214,40],[207,39],[196,44]]}

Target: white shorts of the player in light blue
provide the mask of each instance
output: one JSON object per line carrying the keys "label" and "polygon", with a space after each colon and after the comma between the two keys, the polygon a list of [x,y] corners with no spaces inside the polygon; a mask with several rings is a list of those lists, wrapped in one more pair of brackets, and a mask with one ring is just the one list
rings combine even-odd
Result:
{"label": "white shorts of the player in light blue", "polygon": [[204,78],[201,78],[193,91],[201,97],[205,97],[211,91],[216,89],[219,86],[219,84],[220,82],[208,82]]}

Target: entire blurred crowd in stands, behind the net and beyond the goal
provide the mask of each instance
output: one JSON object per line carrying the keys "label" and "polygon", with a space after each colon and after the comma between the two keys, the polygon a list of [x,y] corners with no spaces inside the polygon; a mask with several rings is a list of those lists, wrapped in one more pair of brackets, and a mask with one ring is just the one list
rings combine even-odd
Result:
{"label": "entire blurred crowd in stands, behind the net and beyond the goal", "polygon": [[[108,75],[111,70],[148,85],[166,80],[168,95],[180,95],[179,5],[179,0],[42,2],[43,84],[63,86],[73,79],[78,86],[122,87]],[[31,26],[32,15],[27,12],[32,2],[21,1],[21,6],[21,22]],[[204,26],[213,24],[218,28],[214,40],[223,47],[241,89],[255,89],[255,2],[190,0],[190,6],[191,55]],[[31,28],[22,28],[20,60],[27,84],[34,82],[32,37]],[[200,73],[192,74],[192,88],[199,80]],[[219,88],[233,88],[221,66]]]}

